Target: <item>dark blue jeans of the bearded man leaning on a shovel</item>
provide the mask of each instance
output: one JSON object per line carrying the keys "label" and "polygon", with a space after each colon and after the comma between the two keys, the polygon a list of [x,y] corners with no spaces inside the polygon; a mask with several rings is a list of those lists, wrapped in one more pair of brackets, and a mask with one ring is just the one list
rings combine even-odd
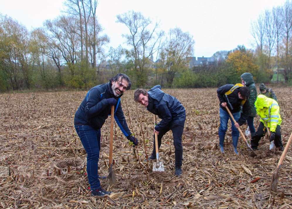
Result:
{"label": "dark blue jeans of the bearded man leaning on a shovel", "polygon": [[91,190],[100,189],[98,178],[98,161],[100,150],[100,129],[95,130],[91,126],[75,126],[76,132],[87,153],[87,176]]}

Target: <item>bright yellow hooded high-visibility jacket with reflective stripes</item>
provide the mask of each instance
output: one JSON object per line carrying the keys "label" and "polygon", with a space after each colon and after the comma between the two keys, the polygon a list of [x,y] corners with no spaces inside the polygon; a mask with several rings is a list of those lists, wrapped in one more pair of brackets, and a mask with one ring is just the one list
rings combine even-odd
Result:
{"label": "bright yellow hooded high-visibility jacket with reflective stripes", "polygon": [[[254,105],[257,108],[257,114],[261,117],[260,121],[262,123],[265,121],[270,131],[275,132],[277,125],[282,123],[278,102],[263,94],[259,94]],[[265,123],[264,126],[266,126]]]}

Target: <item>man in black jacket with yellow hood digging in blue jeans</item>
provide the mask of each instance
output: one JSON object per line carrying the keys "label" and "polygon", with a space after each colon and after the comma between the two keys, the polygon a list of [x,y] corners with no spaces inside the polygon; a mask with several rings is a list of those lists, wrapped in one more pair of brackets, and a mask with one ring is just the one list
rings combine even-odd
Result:
{"label": "man in black jacket with yellow hood digging in blue jeans", "polygon": [[[238,155],[237,152],[237,142],[239,138],[238,127],[241,126],[249,116],[249,88],[246,86],[238,87],[234,89],[232,93],[228,96],[225,95],[234,85],[226,84],[217,89],[217,96],[220,101],[220,127],[218,131],[219,135],[219,146],[220,151],[224,153],[224,138],[225,133],[227,131],[227,124],[230,118],[230,115],[225,108],[228,106],[232,116],[234,117],[236,123],[231,120],[231,130],[232,130],[232,145],[234,148],[235,154]],[[242,105],[243,101],[244,104]],[[242,113],[240,113],[242,107]]]}

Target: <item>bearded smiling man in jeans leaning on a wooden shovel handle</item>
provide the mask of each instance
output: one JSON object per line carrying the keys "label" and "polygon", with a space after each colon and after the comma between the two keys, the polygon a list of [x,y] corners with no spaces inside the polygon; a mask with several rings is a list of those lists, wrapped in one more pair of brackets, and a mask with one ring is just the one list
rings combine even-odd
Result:
{"label": "bearded smiling man in jeans leaning on a wooden shovel handle", "polygon": [[111,106],[115,106],[114,118],[125,137],[133,142],[133,146],[138,144],[128,128],[120,103],[120,97],[130,88],[130,78],[118,73],[108,83],[91,88],[75,113],[74,126],[87,153],[86,168],[92,196],[111,194],[111,191],[101,188],[98,175],[100,129],[108,115],[111,115]]}

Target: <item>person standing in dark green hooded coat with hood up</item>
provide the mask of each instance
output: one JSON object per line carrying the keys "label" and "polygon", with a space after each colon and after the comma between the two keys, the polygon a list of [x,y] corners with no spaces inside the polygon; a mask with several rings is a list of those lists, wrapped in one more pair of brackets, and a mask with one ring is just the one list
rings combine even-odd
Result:
{"label": "person standing in dark green hooded coat with hood up", "polygon": [[254,117],[257,116],[257,111],[254,102],[257,99],[257,88],[254,84],[254,78],[251,73],[243,73],[241,76],[242,85],[249,88],[249,116],[247,117],[247,125],[250,130],[251,137],[254,136]]}

